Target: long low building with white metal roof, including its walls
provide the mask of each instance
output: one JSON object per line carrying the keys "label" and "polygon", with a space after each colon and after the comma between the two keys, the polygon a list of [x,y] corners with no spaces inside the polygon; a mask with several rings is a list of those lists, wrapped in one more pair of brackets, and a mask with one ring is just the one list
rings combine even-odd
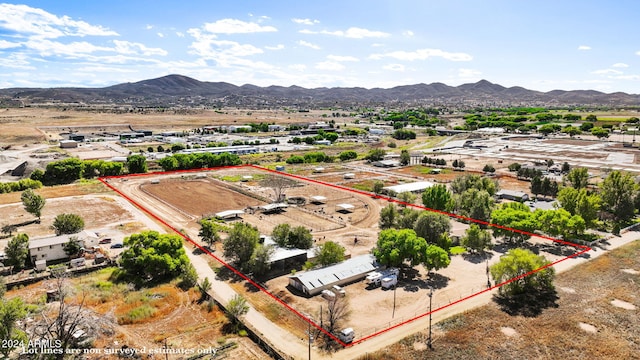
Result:
{"label": "long low building with white metal roof, including its walls", "polygon": [[289,276],[289,285],[314,296],[333,285],[349,284],[364,279],[368,273],[378,269],[372,254],[356,256],[339,264],[327,266]]}

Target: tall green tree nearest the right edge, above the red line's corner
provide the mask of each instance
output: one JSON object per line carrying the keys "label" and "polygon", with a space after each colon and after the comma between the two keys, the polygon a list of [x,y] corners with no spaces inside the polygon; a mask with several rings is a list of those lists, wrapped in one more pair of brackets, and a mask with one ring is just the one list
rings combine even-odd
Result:
{"label": "tall green tree nearest the right edge, above the red line's corner", "polygon": [[637,185],[628,172],[612,171],[600,183],[600,197],[604,210],[613,214],[617,221],[627,221],[634,216],[634,199]]}

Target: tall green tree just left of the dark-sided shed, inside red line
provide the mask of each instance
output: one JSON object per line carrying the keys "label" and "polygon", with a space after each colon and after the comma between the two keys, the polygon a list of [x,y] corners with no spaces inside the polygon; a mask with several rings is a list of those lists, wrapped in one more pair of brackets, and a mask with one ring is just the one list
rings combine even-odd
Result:
{"label": "tall green tree just left of the dark-sided shed, inside red line", "polygon": [[222,244],[224,256],[246,270],[259,240],[257,228],[246,223],[235,223]]}

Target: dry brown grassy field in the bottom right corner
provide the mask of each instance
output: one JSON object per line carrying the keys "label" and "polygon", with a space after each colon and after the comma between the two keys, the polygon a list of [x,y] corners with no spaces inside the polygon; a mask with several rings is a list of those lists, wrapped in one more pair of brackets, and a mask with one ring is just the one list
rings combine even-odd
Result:
{"label": "dry brown grassy field in the bottom right corner", "polygon": [[[369,359],[639,359],[640,241],[556,278],[556,301],[535,317],[495,302],[414,334]],[[635,310],[612,304],[624,301]]]}

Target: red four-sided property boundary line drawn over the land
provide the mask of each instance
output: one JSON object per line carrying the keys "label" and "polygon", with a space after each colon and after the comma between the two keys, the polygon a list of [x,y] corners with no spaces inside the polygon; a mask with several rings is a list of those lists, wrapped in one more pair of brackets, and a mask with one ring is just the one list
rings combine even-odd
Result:
{"label": "red four-sided property boundary line drawn over the land", "polygon": [[[382,330],[380,330],[378,332],[375,332],[375,333],[373,333],[371,335],[365,336],[363,338],[360,338],[358,340],[355,340],[355,341],[347,344],[347,343],[341,341],[340,339],[338,339],[335,335],[327,332],[325,329],[320,327],[312,319],[310,319],[309,317],[307,317],[304,314],[300,313],[298,310],[296,310],[295,308],[293,308],[292,306],[290,306],[289,304],[284,302],[279,297],[273,295],[271,292],[269,292],[267,289],[265,289],[260,284],[255,282],[253,279],[249,278],[248,276],[243,274],[241,271],[239,271],[235,267],[233,267],[230,264],[226,263],[224,260],[222,260],[221,258],[216,256],[215,254],[210,252],[208,249],[202,247],[201,245],[196,243],[194,240],[189,238],[187,235],[181,233],[178,229],[176,229],[175,227],[173,227],[172,225],[167,223],[165,220],[161,219],[158,215],[156,215],[155,213],[151,212],[149,209],[147,209],[146,207],[141,205],[139,202],[135,201],[134,199],[132,199],[128,195],[124,194],[122,191],[120,191],[119,189],[117,189],[116,187],[112,186],[109,183],[110,179],[120,179],[120,178],[128,178],[128,177],[148,177],[148,176],[171,175],[171,174],[178,174],[178,173],[193,173],[193,172],[203,172],[203,171],[218,171],[218,170],[226,170],[226,169],[242,169],[242,168],[245,168],[245,167],[254,168],[254,169],[257,169],[257,170],[261,170],[261,171],[277,174],[277,175],[280,175],[280,176],[286,176],[286,177],[289,177],[289,178],[301,180],[301,181],[312,183],[312,184],[318,184],[318,185],[322,185],[322,186],[327,186],[327,187],[338,189],[338,190],[342,190],[342,191],[348,191],[348,192],[351,192],[351,193],[364,195],[364,196],[368,196],[368,197],[375,198],[375,199],[381,199],[381,200],[388,201],[390,203],[396,203],[396,204],[401,204],[401,205],[412,207],[412,208],[416,208],[416,209],[436,212],[436,213],[444,214],[444,215],[447,215],[449,217],[456,218],[456,219],[459,219],[459,220],[465,220],[465,221],[470,221],[470,222],[474,222],[474,223],[477,223],[477,224],[482,224],[482,225],[486,225],[486,226],[490,226],[490,227],[494,227],[494,228],[500,228],[500,229],[503,229],[503,230],[512,231],[512,232],[516,232],[516,233],[523,234],[523,235],[539,237],[539,238],[542,238],[542,239],[545,239],[545,240],[553,241],[553,242],[561,244],[561,245],[572,246],[572,247],[576,248],[577,251],[575,253],[569,255],[569,256],[566,256],[564,258],[556,260],[556,261],[554,261],[552,263],[549,263],[549,264],[547,264],[547,265],[545,265],[543,267],[540,267],[538,269],[532,270],[532,271],[530,271],[530,272],[528,272],[526,274],[522,274],[522,275],[514,277],[512,279],[503,281],[503,282],[501,282],[499,284],[495,284],[492,287],[486,288],[486,289],[484,289],[482,291],[479,291],[477,293],[473,293],[473,294],[471,294],[469,296],[466,296],[464,298],[461,298],[459,300],[456,300],[454,302],[451,302],[451,303],[449,303],[447,305],[444,305],[444,306],[441,306],[439,308],[432,309],[431,311],[425,312],[423,314],[420,314],[418,316],[410,318],[410,319],[408,319],[406,321],[403,321],[403,322],[398,323],[396,325],[393,325],[393,326],[390,326],[388,328],[382,329]],[[373,337],[376,337],[376,336],[378,336],[380,334],[383,334],[385,332],[388,332],[390,330],[398,328],[398,327],[400,327],[402,325],[405,325],[405,324],[411,323],[413,321],[416,321],[418,319],[424,318],[425,316],[433,314],[433,313],[435,313],[437,311],[440,311],[440,310],[446,309],[446,308],[448,308],[450,306],[459,304],[459,303],[461,303],[461,302],[463,302],[465,300],[471,299],[471,298],[473,298],[475,296],[484,294],[484,293],[489,292],[489,291],[491,291],[493,289],[499,288],[499,287],[501,287],[503,285],[506,285],[506,284],[509,284],[511,282],[520,280],[520,279],[522,279],[522,278],[524,278],[526,276],[532,275],[532,274],[534,274],[536,272],[539,272],[539,271],[544,270],[546,268],[552,267],[553,265],[556,265],[556,264],[558,264],[558,263],[560,263],[562,261],[578,257],[578,256],[580,256],[580,255],[582,255],[582,254],[584,254],[584,253],[586,253],[588,251],[591,251],[591,248],[586,246],[586,245],[575,244],[575,243],[571,243],[571,242],[568,242],[568,241],[552,238],[552,237],[545,236],[545,235],[534,234],[534,233],[530,233],[530,232],[519,230],[519,229],[513,229],[513,228],[506,227],[506,226],[498,225],[498,224],[492,224],[492,223],[489,223],[489,222],[486,222],[486,221],[482,221],[482,220],[472,219],[472,218],[469,218],[469,217],[466,217],[466,216],[462,216],[462,215],[458,215],[458,214],[452,214],[452,213],[448,213],[448,212],[445,212],[445,211],[430,209],[430,208],[427,208],[427,207],[424,207],[424,206],[403,202],[403,201],[400,201],[400,200],[397,200],[397,199],[394,199],[394,198],[391,198],[391,197],[388,197],[388,196],[378,195],[378,194],[370,193],[370,192],[367,192],[367,191],[362,191],[362,190],[348,188],[348,187],[341,186],[341,185],[331,184],[331,183],[327,183],[327,182],[324,182],[324,181],[307,178],[307,177],[300,176],[300,175],[288,174],[288,173],[284,173],[284,172],[281,172],[281,171],[268,169],[268,168],[265,168],[265,167],[262,167],[262,166],[257,166],[257,165],[238,165],[238,166],[223,166],[223,167],[216,167],[216,168],[202,168],[202,169],[189,169],[189,170],[176,170],[176,171],[158,171],[158,172],[143,173],[143,174],[129,174],[129,175],[120,175],[120,176],[101,177],[101,178],[98,178],[98,180],[100,182],[102,182],[105,186],[107,186],[109,189],[113,190],[114,192],[116,192],[117,194],[119,194],[120,196],[125,198],[127,201],[129,201],[130,203],[132,203],[133,205],[138,207],[140,210],[142,210],[147,215],[151,216],[152,218],[154,218],[155,220],[157,220],[158,222],[160,222],[162,225],[166,226],[167,228],[173,230],[176,234],[178,234],[184,240],[188,241],[193,246],[198,248],[198,250],[204,252],[205,254],[211,256],[212,258],[214,258],[216,261],[220,262],[223,266],[225,266],[227,269],[231,270],[234,274],[236,274],[239,277],[241,277],[242,279],[246,280],[247,282],[249,282],[251,285],[255,286],[257,289],[259,289],[263,293],[267,294],[269,297],[271,297],[273,300],[278,302],[280,305],[284,306],[287,310],[291,311],[297,317],[299,317],[303,321],[307,322],[311,326],[315,327],[319,331],[323,332],[327,336],[331,337],[333,340],[338,342],[343,347],[349,347],[349,346],[353,346],[353,345],[359,344],[359,343],[361,343],[363,341],[369,340],[369,339],[371,339]]]}

